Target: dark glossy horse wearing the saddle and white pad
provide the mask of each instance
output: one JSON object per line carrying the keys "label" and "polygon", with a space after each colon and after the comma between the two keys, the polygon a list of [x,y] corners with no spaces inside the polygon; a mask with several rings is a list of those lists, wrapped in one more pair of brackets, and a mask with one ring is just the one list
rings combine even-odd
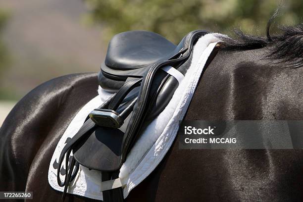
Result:
{"label": "dark glossy horse wearing the saddle and white pad", "polygon": [[[185,120],[303,120],[303,26],[278,36],[268,30],[267,37],[222,39]],[[50,159],[97,87],[96,73],[62,76],[15,105],[0,129],[0,191],[60,200],[48,183]],[[177,142],[126,201],[303,201],[302,150],[179,150]]]}

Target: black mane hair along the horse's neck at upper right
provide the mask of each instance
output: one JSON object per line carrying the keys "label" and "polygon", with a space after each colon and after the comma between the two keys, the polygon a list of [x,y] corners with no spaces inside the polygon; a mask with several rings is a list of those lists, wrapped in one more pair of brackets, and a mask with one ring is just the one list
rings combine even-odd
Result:
{"label": "black mane hair along the horse's neck at upper right", "polygon": [[277,63],[286,63],[289,67],[303,66],[303,24],[296,26],[278,26],[281,34],[271,35],[270,26],[278,10],[268,20],[266,36],[253,36],[241,30],[235,30],[235,37],[222,37],[223,50],[253,50],[268,47],[267,57]]}

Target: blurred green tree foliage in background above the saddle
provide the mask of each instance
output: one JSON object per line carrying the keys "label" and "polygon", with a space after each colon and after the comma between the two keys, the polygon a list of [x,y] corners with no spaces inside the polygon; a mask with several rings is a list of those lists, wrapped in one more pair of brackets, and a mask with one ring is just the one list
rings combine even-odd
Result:
{"label": "blurred green tree foliage in background above the saddle", "polygon": [[[230,34],[240,28],[264,34],[278,0],[86,0],[92,11],[88,19],[101,23],[106,39],[129,30],[149,30],[178,42],[195,29]],[[281,23],[300,21],[303,4],[282,2]]]}

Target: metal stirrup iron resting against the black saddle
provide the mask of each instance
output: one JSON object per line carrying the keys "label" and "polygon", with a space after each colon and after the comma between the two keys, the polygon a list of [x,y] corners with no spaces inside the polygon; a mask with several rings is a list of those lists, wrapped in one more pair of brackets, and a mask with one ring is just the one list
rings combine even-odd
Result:
{"label": "metal stirrup iron resting against the black saddle", "polygon": [[120,115],[111,109],[94,109],[89,116],[99,126],[109,128],[120,128],[124,122]]}

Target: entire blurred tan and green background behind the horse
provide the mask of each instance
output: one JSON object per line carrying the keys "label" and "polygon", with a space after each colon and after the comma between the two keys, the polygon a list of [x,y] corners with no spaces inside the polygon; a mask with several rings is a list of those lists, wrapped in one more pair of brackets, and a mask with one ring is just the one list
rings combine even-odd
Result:
{"label": "entire blurred tan and green background behind the horse", "polygon": [[174,43],[195,29],[264,35],[279,4],[277,23],[301,22],[300,0],[0,0],[0,117],[42,82],[99,71],[116,33],[149,30]]}

